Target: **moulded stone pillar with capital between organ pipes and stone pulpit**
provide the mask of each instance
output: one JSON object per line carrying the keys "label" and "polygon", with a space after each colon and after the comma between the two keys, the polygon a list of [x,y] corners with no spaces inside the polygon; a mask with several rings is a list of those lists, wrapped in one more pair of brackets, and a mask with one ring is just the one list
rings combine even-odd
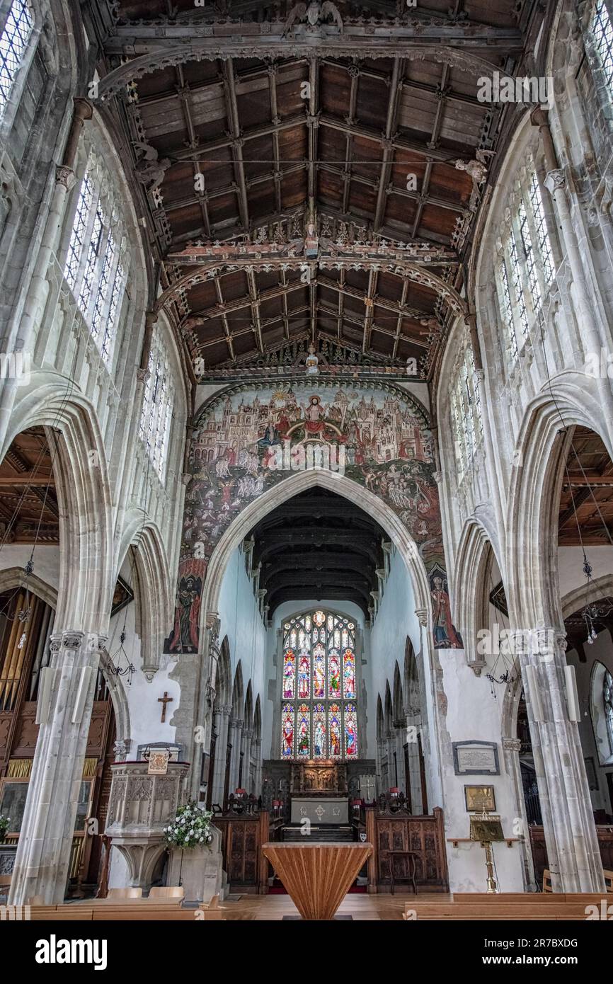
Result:
{"label": "moulded stone pillar with capital between organ pipes and stone pulpit", "polygon": [[64,900],[83,778],[95,676],[105,636],[66,631],[51,636],[48,703],[38,699],[40,729],[31,769],[22,836],[11,882],[12,905],[32,895]]}

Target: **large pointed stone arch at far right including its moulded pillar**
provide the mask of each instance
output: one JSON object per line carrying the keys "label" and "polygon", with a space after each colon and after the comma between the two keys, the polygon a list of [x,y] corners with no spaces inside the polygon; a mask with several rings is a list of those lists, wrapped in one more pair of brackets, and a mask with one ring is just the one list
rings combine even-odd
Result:
{"label": "large pointed stone arch at far right including its moulded pillar", "polygon": [[[507,588],[554,891],[600,892],[602,862],[577,723],[566,701],[566,634],[558,577],[558,512],[572,428],[597,433],[611,455],[596,381],[567,373],[532,400],[509,494]],[[537,708],[535,710],[535,708]]]}

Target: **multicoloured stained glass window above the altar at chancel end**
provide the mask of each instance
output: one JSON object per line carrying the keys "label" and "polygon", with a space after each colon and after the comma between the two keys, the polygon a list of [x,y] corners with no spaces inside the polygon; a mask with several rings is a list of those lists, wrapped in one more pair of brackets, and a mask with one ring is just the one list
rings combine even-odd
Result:
{"label": "multicoloured stained glass window above the altar at chancel end", "polygon": [[281,758],[356,758],[355,624],[322,610],[289,619],[282,666]]}

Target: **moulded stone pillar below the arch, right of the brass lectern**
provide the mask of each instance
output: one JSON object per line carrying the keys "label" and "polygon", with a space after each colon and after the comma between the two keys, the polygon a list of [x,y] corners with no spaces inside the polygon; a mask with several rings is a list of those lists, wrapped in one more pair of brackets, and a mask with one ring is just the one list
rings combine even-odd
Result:
{"label": "moulded stone pillar below the arch, right of the brass lectern", "polygon": [[604,892],[579,728],[566,702],[566,636],[538,628],[516,634],[515,645],[554,892]]}

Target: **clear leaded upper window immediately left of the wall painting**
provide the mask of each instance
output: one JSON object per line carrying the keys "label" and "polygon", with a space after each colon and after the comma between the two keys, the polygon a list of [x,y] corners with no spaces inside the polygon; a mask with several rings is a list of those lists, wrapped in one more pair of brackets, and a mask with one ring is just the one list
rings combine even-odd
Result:
{"label": "clear leaded upper window immediately left of the wall painting", "polygon": [[172,415],[170,379],[170,366],[166,349],[159,334],[154,332],[139,437],[147,448],[147,453],[160,480],[163,480],[165,472]]}

